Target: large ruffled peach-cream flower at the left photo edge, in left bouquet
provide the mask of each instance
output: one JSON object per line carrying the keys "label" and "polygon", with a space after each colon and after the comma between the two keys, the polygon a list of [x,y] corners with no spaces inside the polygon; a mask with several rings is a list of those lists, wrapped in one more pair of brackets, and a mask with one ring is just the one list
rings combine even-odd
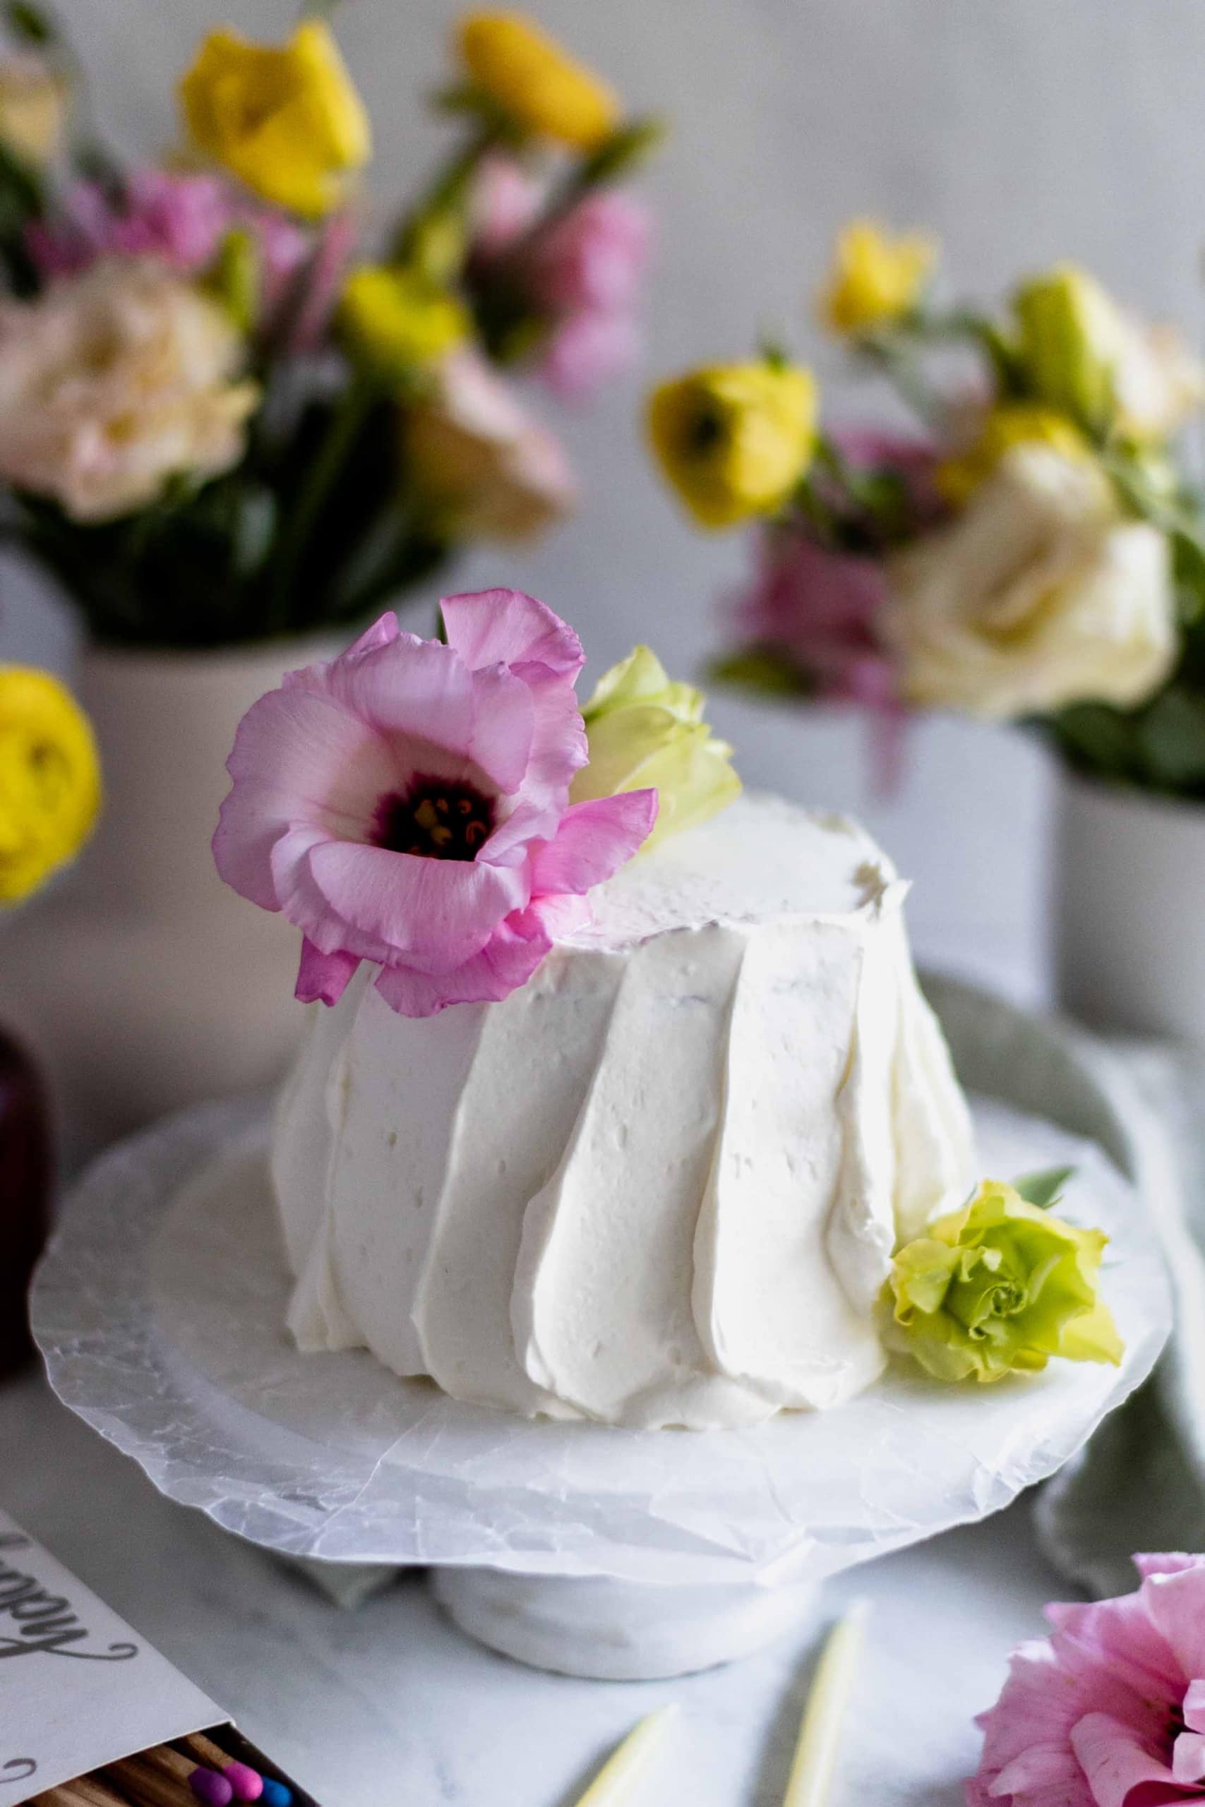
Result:
{"label": "large ruffled peach-cream flower at the left photo edge, in left bouquet", "polygon": [[163,264],[94,264],[0,305],[0,477],[74,520],[154,502],[242,455],[255,383],[217,302]]}

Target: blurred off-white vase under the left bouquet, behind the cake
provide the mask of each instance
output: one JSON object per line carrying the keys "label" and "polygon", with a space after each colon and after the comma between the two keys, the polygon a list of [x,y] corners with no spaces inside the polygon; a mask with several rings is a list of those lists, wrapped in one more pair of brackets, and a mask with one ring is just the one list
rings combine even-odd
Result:
{"label": "blurred off-white vase under the left bouquet, behind the cake", "polygon": [[271,1082],[302,1028],[298,934],[210,853],[244,710],[329,640],[215,652],[90,647],[78,690],[105,808],[76,869],[0,943],[0,1016],[89,1147],[201,1097]]}

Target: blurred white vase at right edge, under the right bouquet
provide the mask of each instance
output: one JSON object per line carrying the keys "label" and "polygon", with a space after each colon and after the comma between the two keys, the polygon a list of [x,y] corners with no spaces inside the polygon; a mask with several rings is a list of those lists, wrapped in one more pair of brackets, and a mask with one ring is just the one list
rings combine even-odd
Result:
{"label": "blurred white vase at right edge, under the right bouquet", "polygon": [[1060,1005],[1205,1048],[1205,804],[1066,773],[1059,808]]}

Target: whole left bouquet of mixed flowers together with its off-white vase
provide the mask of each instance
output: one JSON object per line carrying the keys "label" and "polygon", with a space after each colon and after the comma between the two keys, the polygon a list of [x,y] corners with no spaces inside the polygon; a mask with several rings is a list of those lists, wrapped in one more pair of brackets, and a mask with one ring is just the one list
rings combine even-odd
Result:
{"label": "whole left bouquet of mixed flowers together with its off-white vase", "polygon": [[524,18],[466,16],[455,145],[372,229],[318,16],[213,31],[155,168],[96,143],[49,22],[9,23],[47,119],[22,139],[0,80],[0,520],[83,623],[108,801],[4,992],[107,1133],[287,1057],[287,936],[208,851],[235,723],[462,548],[571,510],[513,374],[589,398],[631,356],[649,219],[621,183],[658,134]]}

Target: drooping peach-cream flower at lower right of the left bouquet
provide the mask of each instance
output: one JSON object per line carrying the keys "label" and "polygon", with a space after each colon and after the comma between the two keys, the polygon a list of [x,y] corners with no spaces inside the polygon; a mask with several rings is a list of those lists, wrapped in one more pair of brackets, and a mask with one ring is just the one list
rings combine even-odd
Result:
{"label": "drooping peach-cream flower at lower right of the left bouquet", "polygon": [[455,537],[529,540],[576,502],[556,439],[468,347],[444,358],[432,399],[406,412],[405,452],[417,495]]}

